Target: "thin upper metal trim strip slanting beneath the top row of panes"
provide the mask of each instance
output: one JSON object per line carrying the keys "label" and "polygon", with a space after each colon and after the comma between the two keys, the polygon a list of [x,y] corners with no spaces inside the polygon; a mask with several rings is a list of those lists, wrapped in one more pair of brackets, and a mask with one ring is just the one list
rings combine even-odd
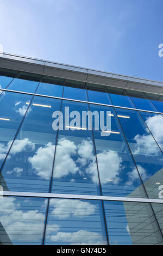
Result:
{"label": "thin upper metal trim strip slanting beneath the top row of panes", "polygon": [[26,92],[21,92],[21,91],[17,91],[17,90],[8,90],[8,89],[3,89],[3,88],[1,89],[1,91],[11,92],[11,93],[28,94],[28,95],[34,95],[34,96],[40,96],[40,97],[49,97],[49,98],[52,98],[52,99],[69,100],[69,101],[74,101],[74,102],[89,103],[89,104],[99,105],[99,106],[105,106],[105,107],[115,107],[115,108],[129,109],[129,110],[134,110],[134,111],[142,111],[142,112],[149,112],[149,113],[154,113],[154,114],[161,114],[161,115],[163,115],[162,112],[150,111],[150,110],[139,109],[139,108],[122,107],[122,106],[109,105],[109,104],[103,104],[103,103],[98,103],[98,102],[67,99],[67,98],[64,98],[64,97],[56,97],[56,96],[44,95],[44,94],[37,94],[37,93],[26,93]]}

